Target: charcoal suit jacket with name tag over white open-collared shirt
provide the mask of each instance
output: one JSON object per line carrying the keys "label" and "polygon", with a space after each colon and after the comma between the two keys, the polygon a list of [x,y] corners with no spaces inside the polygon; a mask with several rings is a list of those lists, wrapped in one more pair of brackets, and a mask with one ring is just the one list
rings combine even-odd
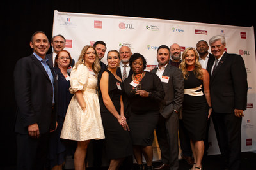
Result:
{"label": "charcoal suit jacket with name tag over white open-collared shirt", "polygon": [[[152,69],[152,73],[156,74],[157,67]],[[160,113],[164,118],[169,118],[174,110],[180,111],[184,98],[184,78],[181,70],[170,63],[166,66],[163,76],[168,76],[168,83],[163,84],[164,99],[160,104]]]}

